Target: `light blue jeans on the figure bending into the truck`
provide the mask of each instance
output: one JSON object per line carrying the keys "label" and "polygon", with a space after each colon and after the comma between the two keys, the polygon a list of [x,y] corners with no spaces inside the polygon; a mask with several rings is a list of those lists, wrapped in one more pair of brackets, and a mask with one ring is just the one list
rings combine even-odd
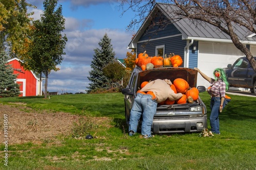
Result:
{"label": "light blue jeans on the figure bending into the truck", "polygon": [[138,93],[130,113],[129,131],[137,132],[140,116],[142,114],[141,134],[151,137],[151,126],[157,109],[157,101],[150,94]]}

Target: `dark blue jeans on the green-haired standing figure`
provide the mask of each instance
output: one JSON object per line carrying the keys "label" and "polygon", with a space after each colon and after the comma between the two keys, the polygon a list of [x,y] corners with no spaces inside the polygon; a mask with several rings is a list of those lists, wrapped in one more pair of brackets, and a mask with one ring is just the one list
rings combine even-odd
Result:
{"label": "dark blue jeans on the green-haired standing figure", "polygon": [[[226,106],[227,102],[223,102],[223,107]],[[213,97],[210,101],[210,127],[211,132],[220,134],[220,123],[219,123],[219,114],[220,114],[220,105],[221,105],[221,98],[220,97]]]}

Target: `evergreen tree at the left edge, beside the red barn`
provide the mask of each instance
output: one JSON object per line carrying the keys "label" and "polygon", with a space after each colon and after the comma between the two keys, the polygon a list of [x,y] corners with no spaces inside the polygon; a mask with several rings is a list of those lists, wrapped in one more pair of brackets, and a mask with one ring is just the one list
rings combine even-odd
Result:
{"label": "evergreen tree at the left edge, beside the red barn", "polygon": [[19,85],[15,82],[17,75],[13,74],[13,68],[6,64],[7,55],[0,53],[0,98],[19,95]]}

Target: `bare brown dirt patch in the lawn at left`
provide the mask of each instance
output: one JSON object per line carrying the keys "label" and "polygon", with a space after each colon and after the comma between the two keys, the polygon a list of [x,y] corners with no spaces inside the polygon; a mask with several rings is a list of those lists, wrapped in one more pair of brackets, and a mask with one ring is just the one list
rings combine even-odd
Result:
{"label": "bare brown dirt patch in the lawn at left", "polygon": [[[31,141],[40,143],[55,140],[57,135],[71,135],[74,122],[81,116],[64,112],[35,111],[24,105],[0,105],[0,138],[8,138],[8,143]],[[5,117],[6,116],[6,119]],[[95,124],[111,121],[106,117],[91,120]],[[8,123],[8,134],[4,133]]]}

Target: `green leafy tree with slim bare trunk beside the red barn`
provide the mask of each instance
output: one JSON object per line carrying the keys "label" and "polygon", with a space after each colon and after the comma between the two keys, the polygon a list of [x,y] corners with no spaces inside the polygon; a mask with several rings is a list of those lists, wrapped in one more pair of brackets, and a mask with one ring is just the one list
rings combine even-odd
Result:
{"label": "green leafy tree with slim bare trunk beside the red barn", "polygon": [[[61,32],[65,29],[65,18],[62,16],[61,5],[56,8],[57,0],[45,0],[41,19],[33,22],[34,31],[29,55],[24,63],[38,74],[46,76],[45,98],[47,98],[48,76],[51,70],[57,71],[57,65],[65,55],[63,49],[68,41]],[[55,9],[56,8],[56,9]]]}

